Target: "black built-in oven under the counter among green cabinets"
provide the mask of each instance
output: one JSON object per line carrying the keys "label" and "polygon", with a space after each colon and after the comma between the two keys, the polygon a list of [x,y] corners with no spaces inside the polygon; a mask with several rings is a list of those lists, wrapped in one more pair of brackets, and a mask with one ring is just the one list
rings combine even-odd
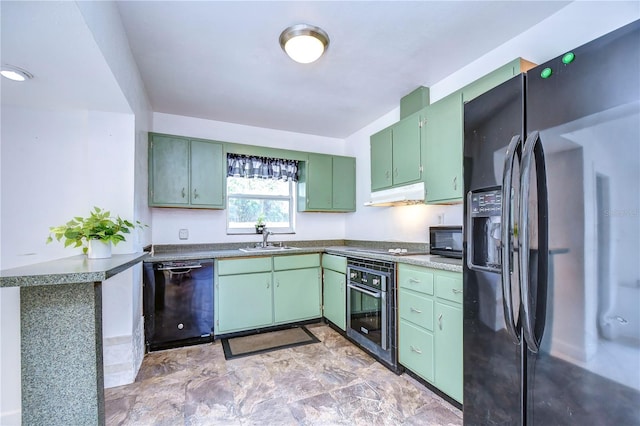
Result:
{"label": "black built-in oven under the counter among green cabinets", "polygon": [[347,276],[347,336],[399,373],[395,264],[349,257]]}

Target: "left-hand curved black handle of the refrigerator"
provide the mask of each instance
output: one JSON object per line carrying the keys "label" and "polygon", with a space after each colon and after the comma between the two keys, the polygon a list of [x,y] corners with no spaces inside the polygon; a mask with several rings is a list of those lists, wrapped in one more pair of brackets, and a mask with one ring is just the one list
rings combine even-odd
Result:
{"label": "left-hand curved black handle of the refrigerator", "polygon": [[514,343],[519,344],[521,336],[515,322],[513,311],[513,296],[511,292],[511,253],[513,247],[511,244],[511,207],[512,207],[512,185],[513,179],[513,162],[516,158],[516,152],[522,144],[520,135],[511,138],[507,152],[504,158],[504,169],[502,172],[502,221],[500,236],[502,240],[501,267],[502,267],[502,308],[504,309],[504,321],[507,325],[507,331]]}

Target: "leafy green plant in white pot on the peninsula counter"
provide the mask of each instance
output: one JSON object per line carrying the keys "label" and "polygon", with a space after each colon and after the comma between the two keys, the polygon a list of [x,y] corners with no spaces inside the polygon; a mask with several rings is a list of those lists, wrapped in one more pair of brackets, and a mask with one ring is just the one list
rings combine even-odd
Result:
{"label": "leafy green plant in white pot on the peninsula counter", "polygon": [[47,243],[54,238],[57,241],[64,238],[65,247],[82,246],[82,252],[89,259],[109,258],[112,243],[117,245],[120,241],[126,241],[125,234],[142,227],[140,221],[134,224],[120,216],[112,217],[108,210],[94,207],[88,217],[76,216],[64,225],[50,227]]}

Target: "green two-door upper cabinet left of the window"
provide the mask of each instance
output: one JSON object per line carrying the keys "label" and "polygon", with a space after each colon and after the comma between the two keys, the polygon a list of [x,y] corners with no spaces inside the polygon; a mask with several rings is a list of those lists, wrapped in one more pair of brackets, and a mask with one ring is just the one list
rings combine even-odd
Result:
{"label": "green two-door upper cabinet left of the window", "polygon": [[149,205],[224,208],[223,145],[149,134]]}

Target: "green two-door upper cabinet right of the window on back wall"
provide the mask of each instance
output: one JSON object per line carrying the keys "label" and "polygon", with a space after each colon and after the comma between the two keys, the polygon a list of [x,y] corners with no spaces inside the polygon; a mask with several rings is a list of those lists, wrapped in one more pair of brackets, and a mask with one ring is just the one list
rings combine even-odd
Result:
{"label": "green two-door upper cabinet right of the window on back wall", "polygon": [[310,153],[300,163],[299,211],[356,210],[356,159]]}

